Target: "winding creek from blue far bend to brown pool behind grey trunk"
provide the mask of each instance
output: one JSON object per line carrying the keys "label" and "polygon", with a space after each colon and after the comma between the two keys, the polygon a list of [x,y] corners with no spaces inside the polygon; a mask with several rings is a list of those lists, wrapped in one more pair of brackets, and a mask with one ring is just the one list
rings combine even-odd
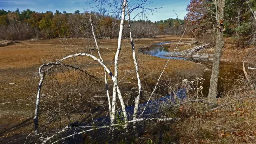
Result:
{"label": "winding creek from blue far bend to brown pool behind grey trunk", "polygon": [[[149,46],[147,49],[144,49],[142,53],[156,56],[159,58],[169,59],[171,52],[168,50],[169,46],[164,45],[171,42],[161,42],[154,45]],[[211,77],[211,69],[212,69],[212,61],[209,59],[200,59],[200,58],[183,58],[183,57],[171,57],[171,59],[179,59],[186,61],[193,61],[196,63],[201,63],[207,67],[207,70],[203,73],[203,78],[205,79],[203,83],[203,95],[208,95],[208,89],[210,85],[210,77]],[[243,75],[242,63],[238,62],[220,62],[220,72],[219,72],[219,86],[218,86],[218,94],[220,95],[224,89],[229,88],[230,85],[234,83],[237,79],[238,74]]]}

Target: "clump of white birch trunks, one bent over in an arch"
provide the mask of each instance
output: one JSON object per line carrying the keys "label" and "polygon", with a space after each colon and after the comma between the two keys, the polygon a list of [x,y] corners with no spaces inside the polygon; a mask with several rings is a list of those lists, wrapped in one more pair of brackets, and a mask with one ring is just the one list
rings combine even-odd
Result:
{"label": "clump of white birch trunks, one bent over in an arch", "polygon": [[[131,9],[129,9],[129,7],[128,7],[127,0],[123,0],[121,2],[121,19],[120,19],[120,27],[119,27],[119,37],[118,37],[117,51],[115,52],[115,57],[114,57],[114,73],[113,74],[111,72],[111,69],[108,67],[108,65],[105,64],[105,61],[104,61],[104,59],[101,55],[100,50],[102,49],[102,47],[99,46],[96,35],[94,33],[94,28],[93,28],[94,26],[93,26],[93,23],[92,23],[92,20],[91,20],[91,16],[89,18],[90,18],[90,24],[91,24],[91,28],[92,28],[92,35],[93,35],[93,38],[94,38],[93,39],[94,40],[94,45],[96,46],[96,48],[90,49],[87,52],[81,52],[81,53],[76,53],[75,52],[75,54],[67,55],[67,56],[59,59],[56,62],[44,63],[43,65],[40,66],[40,68],[39,68],[40,82],[39,82],[39,87],[38,87],[38,92],[37,92],[36,109],[35,109],[35,117],[34,117],[34,124],[35,124],[34,132],[35,132],[36,136],[41,135],[41,133],[39,133],[39,102],[40,102],[41,90],[43,89],[43,82],[44,82],[44,77],[46,75],[46,72],[51,71],[51,69],[53,69],[55,66],[56,66],[56,69],[57,69],[57,66],[61,65],[61,66],[71,67],[73,69],[85,72],[90,77],[93,77],[88,72],[84,71],[83,69],[80,69],[79,67],[75,67],[75,66],[72,66],[72,65],[67,65],[67,64],[64,63],[65,60],[67,60],[67,59],[75,59],[75,58],[80,58],[80,57],[91,58],[93,61],[96,61],[104,69],[104,78],[105,78],[105,85],[106,85],[105,90],[106,90],[106,95],[107,95],[108,112],[109,112],[109,118],[110,118],[111,123],[109,125],[96,126],[96,127],[94,127],[94,126],[80,126],[80,127],[77,127],[77,128],[82,129],[82,131],[78,132],[76,134],[80,134],[80,133],[84,133],[84,132],[92,131],[92,130],[96,130],[96,129],[115,128],[115,126],[122,126],[124,129],[126,129],[128,124],[130,124],[130,123],[132,123],[132,124],[135,124],[135,123],[138,123],[138,122],[141,123],[141,122],[144,122],[146,120],[150,120],[150,121],[151,120],[156,120],[156,121],[165,121],[165,120],[173,121],[173,120],[175,120],[173,118],[151,118],[151,117],[146,118],[146,119],[145,118],[137,118],[138,105],[139,105],[140,97],[142,96],[142,85],[141,85],[140,76],[139,76],[139,65],[138,65],[138,61],[137,61],[137,58],[136,58],[135,45],[134,45],[133,37],[132,37],[132,26],[131,26],[131,21],[132,20],[130,18],[130,13],[132,11],[134,11],[135,9],[137,9],[139,7],[142,7],[145,4],[146,1],[147,0],[142,0],[141,3],[138,2],[137,5],[133,8],[131,8]],[[145,9],[143,9],[143,11],[144,10]],[[149,10],[149,9],[147,9],[147,10]],[[138,95],[133,100],[135,102],[135,105],[134,105],[135,108],[134,108],[134,111],[133,111],[133,120],[130,120],[130,121],[128,121],[128,118],[127,118],[126,105],[125,105],[124,98],[123,98],[123,95],[121,93],[121,89],[119,87],[119,81],[118,81],[118,71],[119,71],[118,60],[120,59],[119,55],[120,55],[121,48],[122,48],[122,36],[123,36],[123,31],[125,29],[124,28],[125,16],[128,16],[127,19],[128,19],[128,28],[129,28],[129,34],[130,34],[132,59],[133,59],[134,65],[135,65],[136,78],[137,78],[137,81],[138,81]],[[184,30],[184,33],[185,33],[185,30]],[[183,33],[183,35],[184,35],[184,33]],[[177,49],[177,47],[176,47],[176,49]],[[93,51],[97,51],[98,54],[94,55]],[[169,62],[169,60],[168,60],[168,62]],[[168,64],[168,62],[167,62],[167,64]],[[164,69],[166,68],[167,64],[165,65]],[[164,70],[163,70],[163,72],[164,72]],[[163,72],[161,73],[161,76],[162,76]],[[159,79],[161,78],[161,76],[158,78],[158,82],[159,82]],[[111,78],[112,83],[113,83],[112,99],[110,98],[111,94],[108,91],[108,82],[107,82],[108,77]],[[158,82],[156,84],[156,87],[158,85]],[[156,87],[155,87],[155,89],[156,89]],[[116,97],[118,97],[118,100],[117,100]],[[118,108],[117,108],[118,102],[121,105],[121,110],[120,111],[118,111]],[[121,124],[118,123],[118,120],[120,120],[120,119],[116,119],[116,116],[120,114],[119,112],[122,113],[121,115],[122,115],[123,123],[121,123]],[[56,137],[57,135],[60,135],[64,132],[66,132],[69,128],[70,128],[70,126],[66,126],[65,128],[60,129],[59,131],[57,131],[56,133],[54,133],[51,136],[47,136],[46,138],[41,137],[43,139],[42,144],[48,143],[49,141],[51,141],[53,139],[53,137]],[[57,143],[61,140],[65,140],[66,138],[72,137],[74,135],[75,134],[69,135],[67,137],[60,138],[59,140],[57,140],[53,143]]]}

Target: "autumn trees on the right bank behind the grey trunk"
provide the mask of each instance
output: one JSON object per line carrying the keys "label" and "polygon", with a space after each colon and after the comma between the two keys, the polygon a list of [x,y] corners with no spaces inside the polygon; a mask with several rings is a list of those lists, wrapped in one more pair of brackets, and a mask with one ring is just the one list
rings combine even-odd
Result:
{"label": "autumn trees on the right bank behind the grey trunk", "polygon": [[[224,36],[250,37],[250,42],[256,44],[256,0],[225,0],[225,7]],[[218,26],[212,0],[190,0],[187,11],[185,20],[190,22],[190,36],[214,40]]]}

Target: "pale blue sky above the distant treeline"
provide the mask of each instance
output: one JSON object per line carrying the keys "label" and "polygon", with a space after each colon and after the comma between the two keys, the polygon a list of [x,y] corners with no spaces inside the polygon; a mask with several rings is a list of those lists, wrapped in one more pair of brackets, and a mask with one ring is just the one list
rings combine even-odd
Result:
{"label": "pale blue sky above the distant treeline", "polygon": [[[55,12],[55,9],[58,9],[61,12],[65,10],[68,13],[74,13],[75,10],[80,12],[96,10],[85,1],[87,0],[0,0],[0,9],[15,10],[19,8],[20,10],[30,9],[37,12],[45,12],[46,10]],[[147,8],[163,7],[148,17],[151,21],[159,21],[176,18],[177,16],[173,11],[177,13],[180,19],[184,19],[187,13],[186,7],[190,0],[151,0],[150,2],[152,3]],[[132,15],[134,16],[135,13]]]}

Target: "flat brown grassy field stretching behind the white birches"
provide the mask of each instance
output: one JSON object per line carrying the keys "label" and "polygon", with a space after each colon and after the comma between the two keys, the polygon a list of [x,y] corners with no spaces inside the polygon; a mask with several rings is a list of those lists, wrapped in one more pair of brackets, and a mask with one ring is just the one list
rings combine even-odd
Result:
{"label": "flat brown grassy field stretching behind the white birches", "polygon": [[[154,39],[135,39],[136,48],[150,46],[151,44],[165,41],[178,41],[180,36],[158,36]],[[182,41],[191,41],[185,36]],[[105,64],[113,69],[114,53],[117,47],[117,39],[100,39],[101,52]],[[10,137],[26,134],[33,130],[32,117],[34,114],[36,92],[38,86],[38,68],[43,62],[55,62],[75,52],[85,52],[95,48],[92,39],[46,39],[20,41],[8,46],[0,47],[0,132],[1,137]],[[113,52],[111,52],[113,51]],[[96,52],[92,52],[97,55]],[[72,63],[72,61],[67,61]],[[90,58],[77,59],[77,62],[89,63]],[[140,73],[143,78],[157,78],[163,69],[166,59],[150,55],[138,54]],[[89,72],[94,76],[104,77],[103,69],[92,62]],[[123,81],[134,81],[132,73],[125,75],[127,71],[134,70],[132,61],[131,44],[123,39],[122,50],[119,59],[119,76]],[[195,78],[201,76],[204,71],[202,64],[189,61],[171,59],[164,72],[165,77]],[[134,71],[133,71],[134,72]],[[61,76],[60,76],[61,77]],[[155,80],[152,80],[153,84]],[[9,85],[9,83],[15,83]],[[134,81],[136,83],[136,80]],[[122,84],[120,85],[122,88]],[[123,85],[125,87],[125,84]],[[103,87],[99,87],[104,89]],[[127,87],[126,87],[127,89]],[[129,89],[129,88],[128,88]],[[97,94],[97,93],[95,93]],[[30,118],[30,119],[29,119]],[[21,124],[20,124],[21,123]],[[20,125],[16,125],[20,124]],[[15,126],[12,130],[12,126]],[[0,137],[0,138],[1,138]]]}

